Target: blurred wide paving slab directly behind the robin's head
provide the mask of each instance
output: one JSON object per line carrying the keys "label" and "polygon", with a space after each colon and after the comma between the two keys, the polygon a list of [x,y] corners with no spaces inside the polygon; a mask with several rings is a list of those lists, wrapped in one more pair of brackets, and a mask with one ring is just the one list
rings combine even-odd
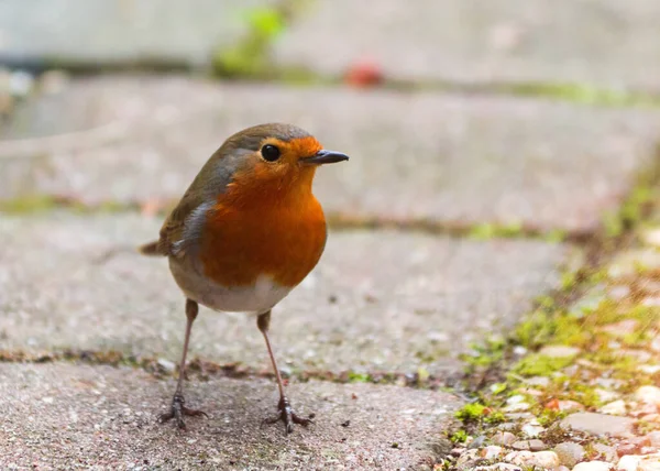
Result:
{"label": "blurred wide paving slab directly behind the robin's head", "polygon": [[2,131],[0,198],[178,199],[226,138],[268,121],[352,156],[317,177],[330,213],[571,231],[618,207],[660,135],[656,110],[105,77],[19,110]]}

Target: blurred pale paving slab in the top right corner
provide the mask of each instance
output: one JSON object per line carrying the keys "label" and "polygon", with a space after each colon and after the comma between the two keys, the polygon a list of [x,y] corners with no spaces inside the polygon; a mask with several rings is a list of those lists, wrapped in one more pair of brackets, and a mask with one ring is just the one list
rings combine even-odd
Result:
{"label": "blurred pale paving slab in the top right corner", "polygon": [[326,75],[370,61],[406,80],[659,91],[659,22],[654,0],[317,1],[274,55]]}

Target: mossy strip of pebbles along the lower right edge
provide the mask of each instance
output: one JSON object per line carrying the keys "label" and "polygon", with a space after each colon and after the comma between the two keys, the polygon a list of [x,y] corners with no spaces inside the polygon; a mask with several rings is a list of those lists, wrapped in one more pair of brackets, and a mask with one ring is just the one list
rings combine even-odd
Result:
{"label": "mossy strip of pebbles along the lower right edge", "polygon": [[586,263],[513,335],[466,357],[474,398],[457,413],[462,425],[447,434],[457,448],[439,469],[660,460],[658,176],[658,165],[641,174]]}

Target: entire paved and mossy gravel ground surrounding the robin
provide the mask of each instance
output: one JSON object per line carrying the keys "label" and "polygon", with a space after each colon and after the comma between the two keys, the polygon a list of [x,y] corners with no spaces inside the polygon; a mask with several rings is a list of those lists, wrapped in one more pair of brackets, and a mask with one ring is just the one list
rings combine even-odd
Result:
{"label": "entire paved and mossy gravel ground surrounding the robin", "polygon": [[[211,418],[180,440],[152,418],[183,298],[134,248],[272,121],[351,156],[318,172],[328,247],[273,317],[320,419],[252,427],[263,339],[202,309]],[[575,410],[594,447],[566,467],[660,449],[659,138],[658,0],[0,0],[0,463],[448,469],[505,419],[503,447],[551,453]],[[649,435],[597,451],[617,427]]]}

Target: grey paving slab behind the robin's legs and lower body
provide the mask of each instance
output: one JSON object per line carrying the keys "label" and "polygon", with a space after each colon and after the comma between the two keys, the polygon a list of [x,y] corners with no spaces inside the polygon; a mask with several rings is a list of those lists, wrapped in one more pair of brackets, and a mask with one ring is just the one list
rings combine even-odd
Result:
{"label": "grey paving slab behind the robin's legs and lower body", "polygon": [[[116,350],[178,361],[184,298],[165,259],[133,247],[161,220],[128,216],[0,219],[0,349]],[[123,251],[122,251],[123,249]],[[508,329],[558,285],[570,250],[396,231],[332,232],[318,267],[273,311],[284,371],[461,371],[471,342]],[[268,371],[255,320],[206,308],[191,357]]]}

